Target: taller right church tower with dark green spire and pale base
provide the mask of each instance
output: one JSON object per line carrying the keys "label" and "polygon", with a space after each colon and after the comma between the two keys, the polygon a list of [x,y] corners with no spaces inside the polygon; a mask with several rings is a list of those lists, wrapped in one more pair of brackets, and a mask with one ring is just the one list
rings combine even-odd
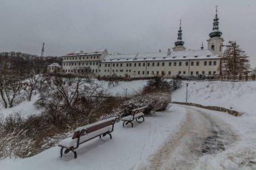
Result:
{"label": "taller right church tower with dark green spire and pale base", "polygon": [[222,32],[219,31],[219,18],[218,18],[218,6],[216,6],[216,15],[214,18],[214,24],[212,28],[212,32],[209,34],[210,39],[207,40],[208,50],[212,50],[214,54],[222,56],[222,45],[224,42],[224,39],[221,38]]}

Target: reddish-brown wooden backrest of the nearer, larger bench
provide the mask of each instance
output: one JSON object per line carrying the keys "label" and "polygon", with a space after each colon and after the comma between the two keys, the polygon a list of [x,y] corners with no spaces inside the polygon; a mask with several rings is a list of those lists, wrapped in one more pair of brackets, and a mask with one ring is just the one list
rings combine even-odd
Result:
{"label": "reddish-brown wooden backrest of the nearer, larger bench", "polygon": [[79,136],[84,136],[85,134],[90,134],[91,132],[94,132],[96,130],[100,130],[102,128],[105,128],[105,127],[113,125],[113,124],[115,124],[115,120],[108,120],[106,122],[102,122],[100,124],[90,126],[86,129],[82,129],[81,131],[77,130],[77,131],[74,132],[72,138],[74,139],[74,138],[78,138]]}

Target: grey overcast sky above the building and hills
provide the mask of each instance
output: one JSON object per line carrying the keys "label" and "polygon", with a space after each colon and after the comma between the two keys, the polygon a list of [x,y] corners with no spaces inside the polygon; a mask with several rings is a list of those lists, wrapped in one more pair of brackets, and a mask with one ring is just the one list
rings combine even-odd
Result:
{"label": "grey overcast sky above the building and hills", "polygon": [[218,5],[224,44],[234,40],[256,65],[255,0],[0,0],[0,52],[62,56],[73,50],[166,51],[182,19],[184,46],[199,49]]}

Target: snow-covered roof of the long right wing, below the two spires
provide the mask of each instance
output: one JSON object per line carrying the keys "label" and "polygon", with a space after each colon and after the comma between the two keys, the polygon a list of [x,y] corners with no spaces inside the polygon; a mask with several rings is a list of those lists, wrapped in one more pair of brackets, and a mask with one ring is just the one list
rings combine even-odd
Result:
{"label": "snow-covered roof of the long right wing, below the two spires", "polygon": [[102,62],[129,62],[145,60],[188,60],[188,59],[216,59],[218,55],[211,50],[184,50],[172,51],[170,55],[167,52],[137,53],[137,54],[108,54]]}

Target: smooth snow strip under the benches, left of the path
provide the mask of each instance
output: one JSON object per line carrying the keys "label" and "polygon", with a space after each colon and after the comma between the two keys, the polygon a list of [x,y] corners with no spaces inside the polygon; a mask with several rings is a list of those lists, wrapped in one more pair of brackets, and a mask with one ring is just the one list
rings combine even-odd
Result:
{"label": "smooth snow strip under the benches, left of the path", "polygon": [[[185,120],[185,108],[172,106],[165,112],[146,116],[145,122],[134,122],[133,128],[123,128],[122,122],[115,124],[112,140],[94,138],[73,153],[59,156],[60,148],[55,146],[27,159],[3,159],[1,170],[9,169],[141,169],[150,164],[150,155]],[[108,136],[106,136],[108,138]]]}

